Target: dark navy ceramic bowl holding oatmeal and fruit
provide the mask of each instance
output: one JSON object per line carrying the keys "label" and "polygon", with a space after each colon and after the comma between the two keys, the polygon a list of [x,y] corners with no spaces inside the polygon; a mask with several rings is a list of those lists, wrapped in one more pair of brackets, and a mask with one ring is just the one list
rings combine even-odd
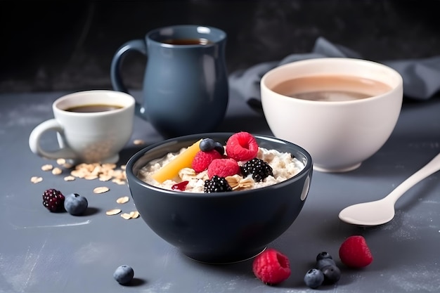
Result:
{"label": "dark navy ceramic bowl holding oatmeal and fruit", "polygon": [[262,148],[290,152],[305,167],[275,185],[227,193],[183,193],[141,181],[138,170],[152,159],[177,152],[200,138],[226,143],[232,134],[195,134],[172,138],[137,152],[127,163],[127,181],[136,209],[163,240],[191,259],[232,263],[259,254],[297,218],[309,192],[312,160],[306,150],[271,136],[258,136]]}

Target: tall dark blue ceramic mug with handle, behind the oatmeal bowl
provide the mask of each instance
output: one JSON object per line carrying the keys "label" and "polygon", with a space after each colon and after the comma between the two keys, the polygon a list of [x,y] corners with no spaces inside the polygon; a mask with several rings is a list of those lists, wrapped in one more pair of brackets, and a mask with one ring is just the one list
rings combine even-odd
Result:
{"label": "tall dark blue ceramic mug with handle, behind the oatmeal bowl", "polygon": [[130,51],[147,58],[143,97],[136,115],[164,137],[214,131],[228,106],[226,33],[215,27],[176,25],[127,41],[112,59],[113,89],[128,93],[121,78]]}

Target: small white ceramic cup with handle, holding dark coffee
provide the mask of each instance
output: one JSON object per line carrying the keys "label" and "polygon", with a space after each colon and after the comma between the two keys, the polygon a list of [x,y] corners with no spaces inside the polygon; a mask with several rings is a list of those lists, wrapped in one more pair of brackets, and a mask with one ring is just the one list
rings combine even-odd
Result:
{"label": "small white ceramic cup with handle, holding dark coffee", "polygon": [[[70,112],[82,105],[116,105],[121,108],[103,112]],[[119,151],[133,132],[135,100],[119,91],[93,90],[70,93],[53,102],[54,119],[42,122],[32,130],[29,145],[32,152],[48,159],[70,159],[71,162],[115,163]],[[43,150],[41,136],[56,131],[58,150]]]}

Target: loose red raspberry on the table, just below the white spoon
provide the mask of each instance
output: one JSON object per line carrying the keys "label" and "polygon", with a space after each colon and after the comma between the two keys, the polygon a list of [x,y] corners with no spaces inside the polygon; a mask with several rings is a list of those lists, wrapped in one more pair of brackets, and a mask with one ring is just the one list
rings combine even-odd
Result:
{"label": "loose red raspberry on the table, just below the white spoon", "polygon": [[348,237],[339,247],[339,259],[351,268],[363,268],[373,261],[365,238],[361,235]]}

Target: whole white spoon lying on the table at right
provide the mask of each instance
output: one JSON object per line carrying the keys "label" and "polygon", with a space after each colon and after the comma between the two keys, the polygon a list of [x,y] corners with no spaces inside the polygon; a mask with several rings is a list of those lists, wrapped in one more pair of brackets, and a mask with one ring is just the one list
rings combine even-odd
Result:
{"label": "whole white spoon lying on the table at right", "polygon": [[399,197],[406,193],[415,184],[427,176],[440,170],[440,154],[425,165],[422,169],[411,175],[401,185],[397,186],[389,195],[382,200],[354,204],[339,212],[339,219],[344,222],[362,226],[377,226],[388,223],[394,218],[394,204]]}

